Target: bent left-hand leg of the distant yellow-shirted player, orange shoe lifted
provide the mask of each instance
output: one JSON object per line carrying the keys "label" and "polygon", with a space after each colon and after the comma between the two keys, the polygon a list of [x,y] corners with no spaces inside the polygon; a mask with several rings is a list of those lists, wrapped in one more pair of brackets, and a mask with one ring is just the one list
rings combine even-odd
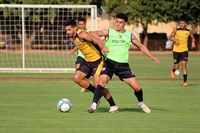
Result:
{"label": "bent left-hand leg of the distant yellow-shirted player, orange shoe lifted", "polygon": [[171,77],[175,78],[175,71],[179,69],[180,53],[173,52],[174,65],[171,69]]}

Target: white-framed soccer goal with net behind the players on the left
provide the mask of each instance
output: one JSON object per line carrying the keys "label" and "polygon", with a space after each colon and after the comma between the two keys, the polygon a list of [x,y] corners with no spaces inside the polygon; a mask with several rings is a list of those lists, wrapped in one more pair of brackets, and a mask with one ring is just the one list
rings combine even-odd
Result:
{"label": "white-framed soccer goal with net behind the players on the left", "polygon": [[96,29],[94,5],[0,5],[0,71],[73,72],[76,54],[67,19]]}

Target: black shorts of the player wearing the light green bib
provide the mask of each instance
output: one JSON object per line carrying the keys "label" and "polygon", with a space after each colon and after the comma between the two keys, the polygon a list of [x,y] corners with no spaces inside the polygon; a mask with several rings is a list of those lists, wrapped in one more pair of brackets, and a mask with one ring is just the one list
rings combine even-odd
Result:
{"label": "black shorts of the player wearing the light green bib", "polygon": [[106,59],[101,74],[106,74],[112,79],[113,74],[117,75],[120,80],[135,77],[135,74],[129,68],[128,63],[118,63],[116,61]]}

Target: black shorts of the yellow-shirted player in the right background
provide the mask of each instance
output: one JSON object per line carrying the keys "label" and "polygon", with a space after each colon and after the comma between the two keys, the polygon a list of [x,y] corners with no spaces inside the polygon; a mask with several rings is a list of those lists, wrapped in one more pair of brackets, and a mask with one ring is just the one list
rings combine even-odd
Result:
{"label": "black shorts of the yellow-shirted player in the right background", "polygon": [[173,52],[174,64],[179,63],[180,61],[188,61],[188,51],[184,52]]}

